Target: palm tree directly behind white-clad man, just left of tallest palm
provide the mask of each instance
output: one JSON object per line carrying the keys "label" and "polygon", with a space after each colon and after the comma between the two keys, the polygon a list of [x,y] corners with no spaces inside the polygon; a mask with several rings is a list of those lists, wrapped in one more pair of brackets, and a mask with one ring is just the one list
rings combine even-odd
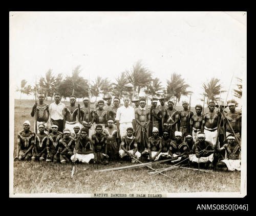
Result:
{"label": "palm tree directly behind white-clad man, just left of tallest palm", "polygon": [[119,98],[123,97],[123,95],[131,94],[133,91],[133,87],[129,86],[129,81],[125,76],[125,72],[121,73],[116,79],[115,83],[112,83],[113,90],[112,93],[114,95],[119,96]]}

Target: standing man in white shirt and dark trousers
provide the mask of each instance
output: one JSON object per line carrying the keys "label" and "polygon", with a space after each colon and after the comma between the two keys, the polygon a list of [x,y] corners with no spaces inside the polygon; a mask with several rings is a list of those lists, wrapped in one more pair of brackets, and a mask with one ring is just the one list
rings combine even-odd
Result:
{"label": "standing man in white shirt and dark trousers", "polygon": [[60,94],[54,94],[55,102],[50,104],[49,112],[50,112],[50,121],[51,125],[53,122],[58,123],[58,131],[63,131],[63,116],[64,116],[64,108],[65,104],[60,102]]}

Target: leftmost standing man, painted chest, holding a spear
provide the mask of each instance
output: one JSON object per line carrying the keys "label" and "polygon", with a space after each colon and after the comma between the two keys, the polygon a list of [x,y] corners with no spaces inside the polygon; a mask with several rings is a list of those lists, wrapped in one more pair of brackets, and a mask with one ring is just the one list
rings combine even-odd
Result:
{"label": "leftmost standing man, painted chest, holding a spear", "polygon": [[[44,124],[46,126],[49,119],[49,106],[44,103],[45,94],[42,94],[42,93],[38,94],[38,100],[39,100],[39,104],[35,102],[32,108],[32,112],[30,113],[30,115],[34,117],[36,112],[36,121],[37,121],[36,133],[39,133],[38,125]],[[45,127],[45,130],[46,130],[46,133],[48,134],[49,130],[47,127]]]}

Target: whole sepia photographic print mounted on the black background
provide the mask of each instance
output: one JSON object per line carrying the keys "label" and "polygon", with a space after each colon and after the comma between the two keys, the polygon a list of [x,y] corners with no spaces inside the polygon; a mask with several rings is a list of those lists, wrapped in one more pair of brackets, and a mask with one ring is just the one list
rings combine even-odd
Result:
{"label": "whole sepia photographic print mounted on the black background", "polygon": [[10,11],[10,198],[247,195],[246,11]]}

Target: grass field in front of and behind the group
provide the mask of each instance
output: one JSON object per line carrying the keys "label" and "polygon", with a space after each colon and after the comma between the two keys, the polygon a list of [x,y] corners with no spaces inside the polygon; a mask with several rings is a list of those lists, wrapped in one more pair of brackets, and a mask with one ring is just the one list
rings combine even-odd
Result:
{"label": "grass field in front of and behind the group", "polygon": [[[15,100],[14,113],[14,153],[16,137],[22,130],[25,120],[31,123],[32,100]],[[51,102],[47,102],[48,104]],[[68,102],[64,102],[68,104]],[[80,103],[81,104],[81,103]],[[178,109],[181,109],[179,107]],[[195,112],[194,108],[191,108]],[[78,164],[77,174],[70,178],[72,164],[59,164],[32,161],[14,161],[13,189],[15,194],[30,193],[187,193],[187,192],[239,192],[240,172],[204,173],[185,169],[165,172],[147,178],[147,167],[125,171],[95,173],[95,170],[131,165],[128,161],[110,162],[108,165]],[[168,164],[155,164],[153,168],[168,167]],[[145,179],[147,178],[147,179]],[[145,179],[145,180],[143,180]],[[143,181],[142,181],[143,180]]]}

